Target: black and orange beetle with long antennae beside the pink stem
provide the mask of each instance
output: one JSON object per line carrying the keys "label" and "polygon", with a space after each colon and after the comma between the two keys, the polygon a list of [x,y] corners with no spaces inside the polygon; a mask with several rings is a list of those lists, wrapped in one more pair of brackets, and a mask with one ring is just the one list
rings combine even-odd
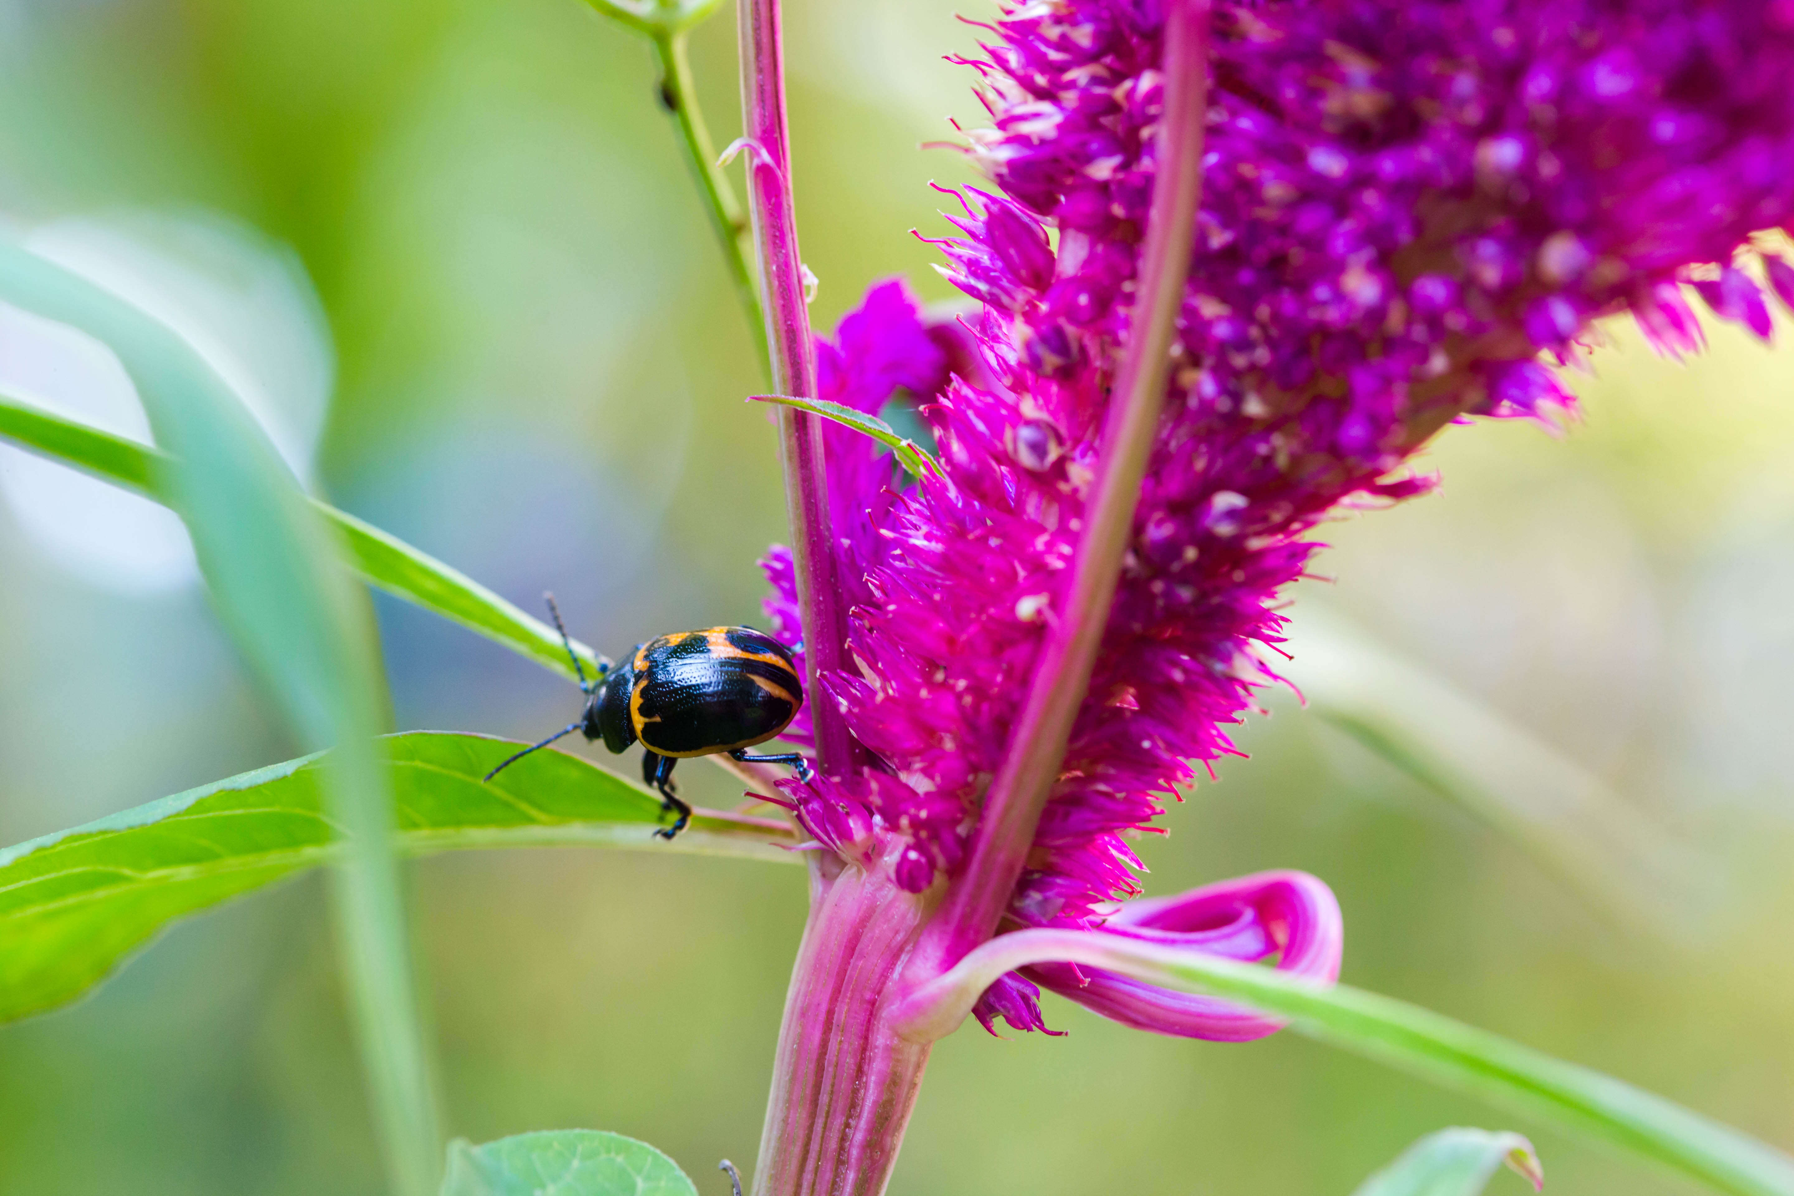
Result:
{"label": "black and orange beetle with long antennae beside the pink stem", "polygon": [[603,739],[612,751],[640,741],[642,780],[660,791],[664,809],[675,814],[671,827],[655,832],[662,839],[691,821],[691,807],[673,787],[673,766],[685,757],[727,751],[745,764],[789,764],[809,780],[809,762],[795,751],[748,755],[748,748],[789,726],[804,705],[804,680],[791,651],[773,637],[753,628],[676,631],[637,644],[623,663],[601,667],[597,680],[587,681],[553,595],[549,613],[579,676],[585,714],[501,762],[486,780],[574,732]]}

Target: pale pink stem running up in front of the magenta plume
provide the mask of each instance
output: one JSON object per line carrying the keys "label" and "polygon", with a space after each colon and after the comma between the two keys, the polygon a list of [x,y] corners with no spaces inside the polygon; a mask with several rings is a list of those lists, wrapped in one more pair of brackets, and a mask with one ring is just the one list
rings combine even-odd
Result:
{"label": "pale pink stem running up in front of the magenta plume", "polygon": [[996,932],[1066,758],[1096,665],[1171,366],[1202,197],[1207,118],[1207,0],[1173,0],[1164,30],[1164,115],[1134,326],[1103,427],[1102,461],[1084,513],[1071,581],[1057,604],[1033,683],[990,782],[965,870],[929,927],[929,965],[951,965]]}

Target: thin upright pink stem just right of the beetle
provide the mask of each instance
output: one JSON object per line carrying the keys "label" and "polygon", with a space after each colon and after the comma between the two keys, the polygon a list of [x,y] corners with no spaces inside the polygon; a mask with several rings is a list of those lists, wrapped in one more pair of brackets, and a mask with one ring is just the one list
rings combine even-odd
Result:
{"label": "thin upright pink stem just right of the beetle", "polygon": [[[784,45],[779,0],[741,0],[741,120],[748,165],[748,213],[761,264],[761,303],[773,389],[816,398],[816,344],[804,298],[804,260],[797,246],[791,199],[791,151],[784,102]],[[784,457],[786,516],[797,563],[797,601],[804,619],[804,663],[809,672],[816,760],[829,776],[859,764],[859,746],[841,712],[816,678],[847,662],[847,610],[836,579],[834,534],[829,527],[829,477],[822,455],[822,420],[779,407],[779,446]]]}

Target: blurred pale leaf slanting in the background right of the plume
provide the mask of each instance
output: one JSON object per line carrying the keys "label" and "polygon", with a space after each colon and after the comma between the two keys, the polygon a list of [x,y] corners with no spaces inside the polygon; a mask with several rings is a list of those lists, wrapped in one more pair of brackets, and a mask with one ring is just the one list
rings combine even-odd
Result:
{"label": "blurred pale leaf slanting in the background right of the plume", "polygon": [[1697,907],[1685,852],[1588,769],[1304,604],[1286,674],[1308,708],[1518,845],[1622,925],[1676,927]]}

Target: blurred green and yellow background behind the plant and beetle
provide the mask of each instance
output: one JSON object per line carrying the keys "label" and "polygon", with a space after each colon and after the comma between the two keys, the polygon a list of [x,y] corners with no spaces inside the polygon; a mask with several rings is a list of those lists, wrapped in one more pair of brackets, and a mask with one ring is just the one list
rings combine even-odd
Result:
{"label": "blurred green and yellow background behind the plant and beetle", "polygon": [[[978,118],[940,57],[972,32],[945,0],[789,4],[820,326],[895,273],[947,298],[908,230],[942,233],[926,183],[969,174],[919,143]],[[727,142],[727,9],[694,59]],[[748,330],[653,90],[646,45],[578,0],[0,0],[0,217],[201,208],[292,246],[337,351],[319,488],[524,606],[556,590],[615,653],[753,620],[782,534]],[[1329,527],[1337,583],[1297,595],[1665,827],[1694,871],[1668,916],[1591,913],[1283,699],[1141,852],[1157,893],[1308,868],[1346,909],[1347,981],[1794,1148],[1794,357],[1710,335],[1677,366],[1615,328],[1564,438],[1450,430],[1444,491]],[[0,841],[294,753],[192,585],[72,567],[5,504],[0,577]],[[574,710],[379,610],[400,726],[535,735]],[[617,1130],[727,1191],[710,1167],[759,1139],[802,873],[563,850],[414,875],[450,1130]],[[375,1192],[321,902],[316,877],[239,902],[0,1029],[0,1192]],[[1286,1035],[1048,1015],[1071,1035],[936,1049],[897,1196],[1322,1196],[1442,1124],[1534,1130]],[[1536,1140],[1557,1192],[1685,1191]]]}

